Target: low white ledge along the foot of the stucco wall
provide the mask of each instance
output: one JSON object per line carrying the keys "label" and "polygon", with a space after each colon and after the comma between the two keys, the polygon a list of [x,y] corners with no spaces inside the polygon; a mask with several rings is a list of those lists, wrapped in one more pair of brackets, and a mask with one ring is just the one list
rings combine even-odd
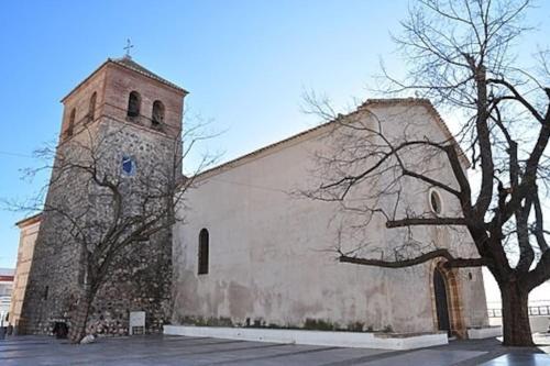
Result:
{"label": "low white ledge along the foot of the stucco wall", "polygon": [[164,334],[378,350],[415,350],[449,343],[447,333],[407,336],[385,333],[164,325]]}

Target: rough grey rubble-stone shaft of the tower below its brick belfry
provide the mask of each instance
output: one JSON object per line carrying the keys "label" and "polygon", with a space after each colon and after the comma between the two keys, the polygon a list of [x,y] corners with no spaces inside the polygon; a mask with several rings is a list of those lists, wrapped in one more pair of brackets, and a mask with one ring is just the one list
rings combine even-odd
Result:
{"label": "rough grey rubble-stone shaft of the tower below its brick belfry", "polygon": [[[121,126],[120,122],[109,119],[90,126],[89,132],[109,146],[108,149],[100,149],[99,165],[106,174],[121,174],[123,155],[130,155],[135,160],[136,175],[121,178],[127,179],[122,186],[129,198],[139,190],[144,176],[151,177],[153,171],[163,170],[162,166],[168,169],[173,164],[174,142],[161,133],[144,134],[138,126]],[[82,157],[82,151],[75,147],[77,142],[82,144],[86,141],[87,137],[82,136],[74,136],[75,141],[59,146],[57,169],[63,169],[63,158],[76,159],[73,155]],[[101,202],[101,193],[89,181],[87,174],[54,171],[23,306],[22,318],[28,333],[50,333],[56,320],[70,324],[85,274],[80,244],[68,234],[72,228],[63,214],[87,222],[89,228],[99,221],[109,223],[110,211]],[[132,202],[127,203],[125,209],[132,210]],[[62,207],[63,214],[48,211],[48,207]],[[84,219],[77,219],[82,214]],[[87,237],[99,239],[101,234],[105,233],[91,232]],[[127,334],[130,311],[145,311],[146,331],[161,331],[169,317],[170,277],[169,229],[155,233],[148,241],[133,243],[118,254],[108,280],[98,290],[90,310],[88,331],[105,335]]]}

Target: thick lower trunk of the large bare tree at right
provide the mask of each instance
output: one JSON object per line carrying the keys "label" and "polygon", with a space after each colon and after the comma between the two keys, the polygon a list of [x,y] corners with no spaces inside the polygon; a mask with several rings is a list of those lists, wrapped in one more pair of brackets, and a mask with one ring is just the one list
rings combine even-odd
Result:
{"label": "thick lower trunk of the large bare tree at right", "polygon": [[503,301],[504,345],[534,346],[529,324],[529,292],[517,281],[499,285]]}

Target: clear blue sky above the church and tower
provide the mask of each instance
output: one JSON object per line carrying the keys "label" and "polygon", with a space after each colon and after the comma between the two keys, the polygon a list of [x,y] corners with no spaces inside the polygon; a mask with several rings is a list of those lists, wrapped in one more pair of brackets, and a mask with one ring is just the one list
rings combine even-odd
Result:
{"label": "clear blue sky above the church and tower", "polygon": [[[344,107],[370,96],[382,56],[402,64],[398,32],[408,1],[3,1],[0,5],[0,198],[25,198],[43,181],[20,179],[33,149],[55,141],[63,98],[125,40],[133,58],[190,91],[191,114],[226,131],[204,148],[245,154],[310,127],[305,89]],[[549,24],[550,4],[530,13]],[[549,34],[548,25],[542,34]],[[546,33],[544,33],[546,32]],[[542,37],[539,37],[542,40]],[[535,48],[535,42],[527,41]],[[372,96],[372,95],[371,95]],[[21,212],[0,211],[0,267],[13,267]]]}

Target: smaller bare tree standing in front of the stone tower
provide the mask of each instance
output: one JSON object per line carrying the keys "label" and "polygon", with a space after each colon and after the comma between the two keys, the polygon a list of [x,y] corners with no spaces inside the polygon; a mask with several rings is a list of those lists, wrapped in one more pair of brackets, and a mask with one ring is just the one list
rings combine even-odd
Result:
{"label": "smaller bare tree standing in front of the stone tower", "polygon": [[79,289],[68,304],[72,342],[78,343],[86,335],[90,307],[101,287],[121,267],[132,266],[128,258],[135,251],[155,235],[170,232],[177,220],[174,211],[185,204],[184,195],[194,186],[193,176],[216,160],[207,154],[195,164],[191,178],[182,173],[183,160],[196,143],[211,137],[204,133],[204,126],[187,125],[183,134],[161,138],[152,147],[160,151],[157,155],[123,156],[122,162],[113,146],[133,127],[118,123],[91,125],[59,146],[38,152],[48,164],[26,174],[52,170],[42,190],[47,191],[46,199],[38,195],[29,202],[9,204],[48,215],[51,224],[41,225],[40,235],[50,235],[78,253],[74,260],[81,280],[75,284]]}

